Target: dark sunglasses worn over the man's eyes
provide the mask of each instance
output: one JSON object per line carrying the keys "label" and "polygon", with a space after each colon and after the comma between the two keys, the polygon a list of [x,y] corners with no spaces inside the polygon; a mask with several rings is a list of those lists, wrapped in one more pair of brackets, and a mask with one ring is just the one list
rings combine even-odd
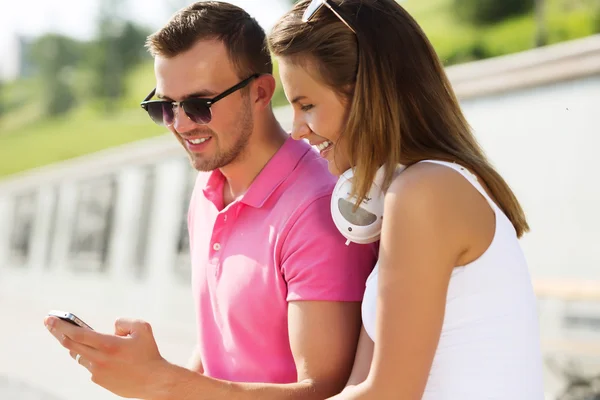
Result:
{"label": "dark sunglasses worn over the man's eyes", "polygon": [[173,125],[175,123],[176,108],[183,109],[185,115],[196,124],[204,125],[212,120],[212,111],[210,108],[213,104],[248,86],[253,79],[258,78],[259,76],[260,74],[254,74],[212,99],[190,97],[183,101],[150,100],[156,94],[156,88],[154,88],[140,105],[146,110],[152,121],[158,125]]}

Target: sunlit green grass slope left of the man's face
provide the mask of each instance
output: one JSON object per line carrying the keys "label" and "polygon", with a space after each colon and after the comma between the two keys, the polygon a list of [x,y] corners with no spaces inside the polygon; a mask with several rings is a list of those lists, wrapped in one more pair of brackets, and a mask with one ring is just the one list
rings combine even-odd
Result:
{"label": "sunlit green grass slope left of the man's face", "polygon": [[[139,107],[153,83],[151,64],[132,71],[118,107],[122,111],[110,115],[100,114],[89,102],[51,119],[36,117],[39,102],[11,111],[0,120],[0,176],[165,133]],[[13,96],[8,87],[7,93]]]}

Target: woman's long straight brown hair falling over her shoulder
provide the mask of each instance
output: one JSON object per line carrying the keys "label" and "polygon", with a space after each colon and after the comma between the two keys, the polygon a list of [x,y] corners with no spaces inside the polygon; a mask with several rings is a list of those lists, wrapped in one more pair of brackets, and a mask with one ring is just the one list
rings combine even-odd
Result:
{"label": "woman's long straight brown hair falling over her shoulder", "polygon": [[477,143],[417,22],[394,0],[328,1],[356,34],[325,7],[302,22],[310,3],[302,0],[275,24],[268,43],[276,57],[315,66],[317,78],[349,102],[340,142],[355,169],[357,204],[382,165],[387,189],[398,164],[457,162],[485,182],[521,237],[529,230],[525,213]]}

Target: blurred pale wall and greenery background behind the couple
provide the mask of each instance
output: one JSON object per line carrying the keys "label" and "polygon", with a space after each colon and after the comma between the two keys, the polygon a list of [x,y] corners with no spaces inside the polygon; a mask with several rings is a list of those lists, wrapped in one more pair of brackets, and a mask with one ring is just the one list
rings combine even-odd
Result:
{"label": "blurred pale wall and greenery background behind the couple", "polygon": [[[231,2],[267,31],[293,4]],[[47,333],[50,309],[102,331],[144,318],[166,358],[191,354],[193,171],[139,107],[154,87],[146,36],[191,3],[29,0],[0,13],[2,400],[115,398]],[[401,4],[529,218],[547,399],[600,399],[600,0]],[[273,102],[289,128],[281,86]]]}

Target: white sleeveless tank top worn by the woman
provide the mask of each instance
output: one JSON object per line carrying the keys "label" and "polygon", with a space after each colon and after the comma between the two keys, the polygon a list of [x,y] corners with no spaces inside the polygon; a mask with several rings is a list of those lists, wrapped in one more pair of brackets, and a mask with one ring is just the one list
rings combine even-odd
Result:
{"label": "white sleeveless tank top worn by the woman", "polygon": [[[467,169],[443,161],[422,162],[459,172],[496,215],[488,249],[452,272],[442,332],[422,399],[543,400],[536,297],[513,225]],[[378,272],[376,265],[362,303],[363,324],[373,340]]]}

